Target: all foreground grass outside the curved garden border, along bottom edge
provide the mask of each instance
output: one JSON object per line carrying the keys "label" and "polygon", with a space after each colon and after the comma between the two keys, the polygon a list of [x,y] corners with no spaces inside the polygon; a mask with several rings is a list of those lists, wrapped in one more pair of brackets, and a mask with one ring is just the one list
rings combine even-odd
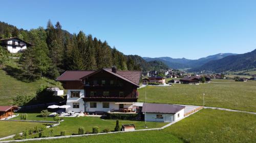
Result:
{"label": "all foreground grass outside the curved garden border, along bottom edge", "polygon": [[[147,122],[148,123],[148,122]],[[75,124],[75,122],[74,122]],[[202,109],[161,131],[140,131],[28,142],[255,142],[256,115]],[[175,135],[175,136],[174,136]],[[180,139],[179,139],[180,138]]]}

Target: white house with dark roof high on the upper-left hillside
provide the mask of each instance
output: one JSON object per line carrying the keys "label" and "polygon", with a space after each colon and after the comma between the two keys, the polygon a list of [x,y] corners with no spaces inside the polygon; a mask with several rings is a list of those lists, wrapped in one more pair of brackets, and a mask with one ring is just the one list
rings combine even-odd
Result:
{"label": "white house with dark roof high on the upper-left hillside", "polygon": [[22,39],[19,39],[17,37],[11,37],[7,39],[0,38],[0,45],[6,48],[11,53],[17,53],[27,49],[27,47],[31,46],[32,44],[23,41]]}

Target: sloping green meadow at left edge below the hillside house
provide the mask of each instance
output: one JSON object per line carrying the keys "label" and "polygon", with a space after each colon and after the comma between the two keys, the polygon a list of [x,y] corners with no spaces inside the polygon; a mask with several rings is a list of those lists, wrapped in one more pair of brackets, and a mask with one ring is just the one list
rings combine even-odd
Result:
{"label": "sloping green meadow at left edge below the hillside house", "polygon": [[47,84],[62,89],[60,83],[45,77],[33,82],[21,81],[17,77],[20,75],[20,69],[15,60],[10,60],[5,70],[0,69],[0,105],[11,105],[12,98],[17,94],[33,93],[41,84]]}

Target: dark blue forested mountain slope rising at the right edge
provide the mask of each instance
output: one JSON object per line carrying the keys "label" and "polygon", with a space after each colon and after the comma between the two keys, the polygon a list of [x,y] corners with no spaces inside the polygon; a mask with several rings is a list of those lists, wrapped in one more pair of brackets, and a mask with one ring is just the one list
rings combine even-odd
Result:
{"label": "dark blue forested mountain slope rising at the right edge", "polygon": [[256,68],[256,49],[244,54],[229,55],[220,60],[210,61],[190,71],[241,71]]}

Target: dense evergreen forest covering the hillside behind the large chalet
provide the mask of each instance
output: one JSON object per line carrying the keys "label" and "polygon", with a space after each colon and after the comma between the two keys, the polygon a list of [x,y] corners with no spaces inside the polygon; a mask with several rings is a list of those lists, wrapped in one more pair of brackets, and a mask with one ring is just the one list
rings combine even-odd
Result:
{"label": "dense evergreen forest covering the hillside behind the large chalet", "polygon": [[30,31],[0,22],[0,37],[18,37],[33,44],[19,60],[24,77],[31,80],[41,76],[54,79],[65,70],[97,70],[113,65],[120,70],[167,68],[162,62],[146,62],[137,55],[124,55],[106,41],[82,31],[70,34],[62,30],[59,22],[53,25],[50,20],[46,28]]}

